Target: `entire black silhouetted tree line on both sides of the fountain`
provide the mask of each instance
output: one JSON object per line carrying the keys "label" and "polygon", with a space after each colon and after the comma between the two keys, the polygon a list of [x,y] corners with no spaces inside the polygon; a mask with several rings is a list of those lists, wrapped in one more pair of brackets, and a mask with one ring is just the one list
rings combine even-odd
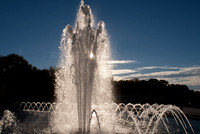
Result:
{"label": "entire black silhouetted tree line on both sides of the fountain", "polygon": [[[37,69],[22,56],[0,56],[0,111],[18,102],[54,102],[55,70]],[[199,107],[200,92],[165,80],[112,81],[116,103],[158,103]]]}

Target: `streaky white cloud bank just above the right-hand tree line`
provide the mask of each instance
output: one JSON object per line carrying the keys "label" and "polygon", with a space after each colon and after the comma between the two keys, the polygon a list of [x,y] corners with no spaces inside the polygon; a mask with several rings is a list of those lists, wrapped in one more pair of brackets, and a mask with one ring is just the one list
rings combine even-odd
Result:
{"label": "streaky white cloud bank just above the right-hand tree line", "polygon": [[[153,69],[158,69],[154,71]],[[159,69],[164,69],[165,71],[159,71]],[[124,69],[126,70],[126,69]],[[145,73],[144,70],[152,70],[152,72]],[[129,70],[130,71],[130,70]],[[127,70],[127,72],[129,72]],[[139,67],[136,70],[130,71],[131,74],[124,76],[114,76],[115,80],[120,79],[164,79],[172,84],[182,84],[191,87],[200,87],[200,66],[192,67],[170,67],[170,66],[149,66],[149,67]],[[124,71],[125,73],[126,71]],[[123,71],[121,71],[123,73]],[[117,74],[117,73],[116,73]]]}

